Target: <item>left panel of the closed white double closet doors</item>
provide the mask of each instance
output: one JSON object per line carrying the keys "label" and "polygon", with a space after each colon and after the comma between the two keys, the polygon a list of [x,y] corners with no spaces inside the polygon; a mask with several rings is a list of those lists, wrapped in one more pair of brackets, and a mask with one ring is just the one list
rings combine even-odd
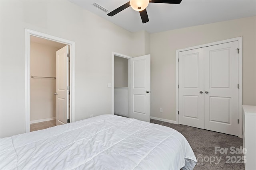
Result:
{"label": "left panel of the closed white double closet doors", "polygon": [[182,51],[179,59],[179,123],[204,129],[204,48]]}

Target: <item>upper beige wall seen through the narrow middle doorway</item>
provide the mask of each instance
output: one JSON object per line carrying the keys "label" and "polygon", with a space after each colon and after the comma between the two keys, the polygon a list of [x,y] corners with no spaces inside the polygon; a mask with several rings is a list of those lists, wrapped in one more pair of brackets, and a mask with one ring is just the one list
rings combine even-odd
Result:
{"label": "upper beige wall seen through the narrow middle doorway", "polygon": [[114,56],[114,87],[128,87],[128,59]]}

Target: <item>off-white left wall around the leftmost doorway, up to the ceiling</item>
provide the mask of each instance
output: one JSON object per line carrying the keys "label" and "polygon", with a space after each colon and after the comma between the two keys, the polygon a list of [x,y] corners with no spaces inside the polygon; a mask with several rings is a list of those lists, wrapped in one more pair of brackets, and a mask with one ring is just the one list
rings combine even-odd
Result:
{"label": "off-white left wall around the leftmost doorway, up to the ceiling", "polygon": [[69,1],[0,1],[0,21],[1,138],[25,132],[25,28],[75,42],[76,121],[112,113],[112,52],[132,56],[132,33]]}

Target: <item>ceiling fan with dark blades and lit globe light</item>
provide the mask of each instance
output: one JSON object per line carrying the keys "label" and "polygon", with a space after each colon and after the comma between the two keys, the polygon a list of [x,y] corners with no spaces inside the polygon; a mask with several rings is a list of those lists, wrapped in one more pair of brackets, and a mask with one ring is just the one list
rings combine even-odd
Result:
{"label": "ceiling fan with dark blades and lit globe light", "polygon": [[116,8],[114,11],[108,13],[108,16],[114,16],[117,13],[121,12],[122,10],[128,8],[129,6],[132,7],[132,9],[140,12],[140,17],[142,20],[142,23],[148,22],[148,13],[146,11],[146,8],[149,4],[149,2],[153,3],[163,3],[163,4],[180,4],[182,0],[130,0],[126,4],[120,6],[119,8]]}

